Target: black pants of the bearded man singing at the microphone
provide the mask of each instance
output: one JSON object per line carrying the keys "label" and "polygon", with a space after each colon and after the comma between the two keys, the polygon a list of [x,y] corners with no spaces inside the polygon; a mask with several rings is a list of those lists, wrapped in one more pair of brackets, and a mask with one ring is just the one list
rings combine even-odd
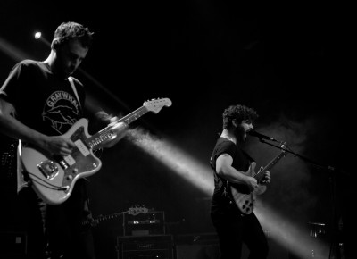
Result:
{"label": "black pants of the bearded man singing at the microphone", "polygon": [[220,240],[221,259],[240,259],[243,243],[249,249],[249,259],[268,257],[268,240],[254,213],[242,215],[231,205],[225,213],[212,213],[211,216]]}

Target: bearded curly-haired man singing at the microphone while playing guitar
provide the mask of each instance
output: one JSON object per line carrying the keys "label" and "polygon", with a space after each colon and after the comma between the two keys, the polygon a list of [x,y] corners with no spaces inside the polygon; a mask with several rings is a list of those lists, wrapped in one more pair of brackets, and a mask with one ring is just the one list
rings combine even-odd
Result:
{"label": "bearded curly-haired man singing at the microphone while playing guitar", "polygon": [[253,212],[246,213],[237,206],[231,192],[233,186],[242,195],[250,194],[257,188],[262,188],[263,192],[266,188],[264,184],[270,182],[269,171],[264,173],[262,182],[252,177],[253,159],[241,146],[247,132],[253,130],[253,121],[257,118],[258,114],[245,105],[231,105],[225,109],[223,131],[212,152],[215,189],[211,217],[220,240],[221,259],[241,258],[243,243],[250,250],[250,259],[268,256],[268,242],[260,222]]}

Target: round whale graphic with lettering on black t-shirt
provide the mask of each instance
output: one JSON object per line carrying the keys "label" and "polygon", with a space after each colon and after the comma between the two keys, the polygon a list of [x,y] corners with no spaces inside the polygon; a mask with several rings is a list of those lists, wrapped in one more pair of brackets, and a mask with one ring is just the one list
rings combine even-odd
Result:
{"label": "round whale graphic with lettering on black t-shirt", "polygon": [[65,91],[56,91],[46,100],[42,113],[44,121],[60,134],[66,133],[79,120],[79,103],[76,97]]}

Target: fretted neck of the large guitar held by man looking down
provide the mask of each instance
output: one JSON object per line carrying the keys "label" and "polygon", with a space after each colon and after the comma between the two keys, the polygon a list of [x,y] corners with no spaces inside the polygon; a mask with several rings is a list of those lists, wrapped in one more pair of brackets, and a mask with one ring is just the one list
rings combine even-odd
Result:
{"label": "fretted neck of the large guitar held by man looking down", "polygon": [[[147,113],[149,110],[145,106],[141,106],[137,110],[135,110],[132,113],[129,113],[128,115],[120,118],[120,120],[115,121],[115,124],[118,124],[120,122],[124,122],[127,125],[129,125],[131,122],[136,121],[138,118],[143,116],[145,113]],[[90,138],[87,138],[87,145],[90,146],[95,150],[95,147],[104,142],[108,138],[112,138],[113,132],[112,132],[112,125],[107,126],[106,128],[98,131],[95,133],[93,136]]]}

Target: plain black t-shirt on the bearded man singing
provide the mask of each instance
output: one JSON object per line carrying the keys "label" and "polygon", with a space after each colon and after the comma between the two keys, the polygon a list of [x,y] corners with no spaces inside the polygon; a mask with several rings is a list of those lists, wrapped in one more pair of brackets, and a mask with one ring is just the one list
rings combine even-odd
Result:
{"label": "plain black t-shirt on the bearded man singing", "polygon": [[220,213],[225,210],[230,199],[227,193],[227,180],[220,178],[216,173],[216,160],[222,154],[228,154],[233,158],[232,166],[238,171],[248,171],[253,159],[227,138],[218,138],[214,146],[211,167],[214,174],[214,192],[212,196],[212,213]]}

